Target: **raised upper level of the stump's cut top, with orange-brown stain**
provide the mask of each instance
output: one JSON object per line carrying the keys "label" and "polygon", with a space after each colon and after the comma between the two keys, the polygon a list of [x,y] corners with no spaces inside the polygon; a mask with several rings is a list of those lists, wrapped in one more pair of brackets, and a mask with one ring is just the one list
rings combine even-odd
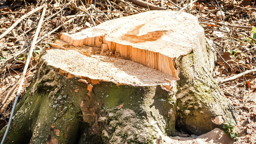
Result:
{"label": "raised upper level of the stump's cut top, with orange-brown stain", "polygon": [[98,46],[115,57],[132,60],[178,78],[176,58],[200,46],[204,30],[185,12],[148,11],[117,18],[61,40],[73,46]]}

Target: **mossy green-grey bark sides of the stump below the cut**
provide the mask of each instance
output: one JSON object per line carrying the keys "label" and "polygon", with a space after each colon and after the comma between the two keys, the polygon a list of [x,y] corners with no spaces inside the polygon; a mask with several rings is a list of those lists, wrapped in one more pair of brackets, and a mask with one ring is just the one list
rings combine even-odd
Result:
{"label": "mossy green-grey bark sides of the stump below the cut", "polygon": [[175,124],[195,134],[219,127],[214,119],[226,122],[232,113],[211,76],[214,54],[199,47],[177,59],[180,80],[169,92],[160,85],[91,86],[62,76],[41,59],[5,143],[150,144],[175,135]]}

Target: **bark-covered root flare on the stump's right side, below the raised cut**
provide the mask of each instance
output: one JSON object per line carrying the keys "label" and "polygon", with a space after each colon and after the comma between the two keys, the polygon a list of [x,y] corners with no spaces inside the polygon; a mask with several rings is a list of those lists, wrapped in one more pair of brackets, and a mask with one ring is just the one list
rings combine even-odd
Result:
{"label": "bark-covered root flare on the stump's right side, below the raised cut", "polygon": [[216,55],[204,38],[193,51],[177,59],[177,125],[201,135],[230,121],[230,102],[212,77]]}

